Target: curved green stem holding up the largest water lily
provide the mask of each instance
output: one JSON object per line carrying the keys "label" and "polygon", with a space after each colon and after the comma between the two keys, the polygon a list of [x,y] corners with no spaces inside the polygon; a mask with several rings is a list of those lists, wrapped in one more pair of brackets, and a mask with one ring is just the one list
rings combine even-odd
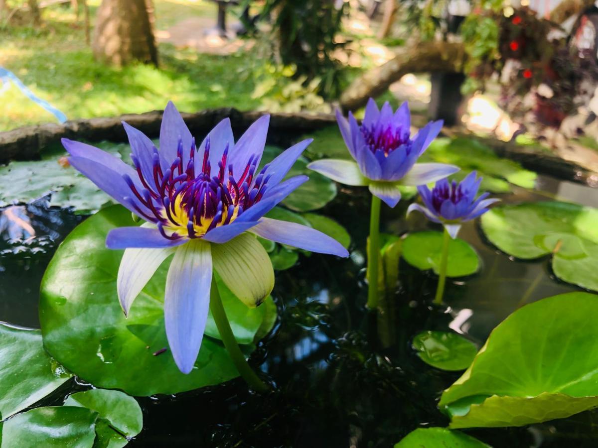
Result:
{"label": "curved green stem holding up the largest water lily", "polygon": [[239,348],[239,344],[237,344],[237,340],[234,338],[233,330],[231,330],[230,323],[228,323],[226,311],[224,311],[224,306],[222,306],[222,299],[218,292],[218,286],[216,286],[216,280],[213,277],[212,288],[210,290],[210,311],[212,311],[212,317],[214,318],[222,342],[233,360],[234,366],[237,367],[237,370],[239,370],[239,373],[245,382],[255,391],[269,391],[270,387],[261,381],[251,369],[245,360],[245,355],[243,355],[243,352]]}

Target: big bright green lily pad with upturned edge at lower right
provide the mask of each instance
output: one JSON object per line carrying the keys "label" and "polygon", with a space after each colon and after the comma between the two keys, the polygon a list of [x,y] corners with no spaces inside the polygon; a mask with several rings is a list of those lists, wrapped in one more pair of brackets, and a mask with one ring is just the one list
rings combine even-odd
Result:
{"label": "big bright green lily pad with upturned edge at lower right", "polygon": [[511,314],[444,391],[450,427],[523,426],[597,407],[596,312],[598,296],[576,292]]}

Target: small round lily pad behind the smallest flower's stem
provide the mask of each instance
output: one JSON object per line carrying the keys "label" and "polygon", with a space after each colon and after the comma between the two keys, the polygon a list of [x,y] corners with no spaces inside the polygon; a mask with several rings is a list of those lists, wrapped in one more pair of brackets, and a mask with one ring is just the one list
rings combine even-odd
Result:
{"label": "small round lily pad behind the smallest flower's stem", "polygon": [[[438,274],[442,257],[442,232],[426,231],[407,235],[403,241],[402,256],[407,263],[425,271],[433,269]],[[447,277],[463,277],[480,269],[480,259],[475,250],[456,238],[449,243]]]}

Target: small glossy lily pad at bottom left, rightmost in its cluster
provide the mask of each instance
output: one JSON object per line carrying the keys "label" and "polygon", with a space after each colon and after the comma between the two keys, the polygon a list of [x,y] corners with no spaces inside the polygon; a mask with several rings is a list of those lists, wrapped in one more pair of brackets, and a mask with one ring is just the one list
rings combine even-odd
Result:
{"label": "small glossy lily pad at bottom left, rightmost in its cluster", "polygon": [[98,413],[103,421],[103,425],[96,424],[100,446],[123,447],[128,442],[126,437],[135,437],[143,429],[141,407],[135,398],[120,391],[91,389],[76,392],[69,395],[65,406],[86,407]]}

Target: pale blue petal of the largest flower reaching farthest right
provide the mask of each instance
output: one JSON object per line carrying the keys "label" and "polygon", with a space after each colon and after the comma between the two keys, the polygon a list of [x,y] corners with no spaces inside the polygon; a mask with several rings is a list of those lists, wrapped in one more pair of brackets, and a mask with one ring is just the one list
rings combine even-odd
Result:
{"label": "pale blue petal of the largest flower reaching farthest right", "polygon": [[316,229],[294,222],[264,217],[260,219],[257,226],[251,229],[251,232],[266,238],[266,240],[288,244],[312,252],[332,254],[339,257],[349,256],[349,251],[334,238]]}

